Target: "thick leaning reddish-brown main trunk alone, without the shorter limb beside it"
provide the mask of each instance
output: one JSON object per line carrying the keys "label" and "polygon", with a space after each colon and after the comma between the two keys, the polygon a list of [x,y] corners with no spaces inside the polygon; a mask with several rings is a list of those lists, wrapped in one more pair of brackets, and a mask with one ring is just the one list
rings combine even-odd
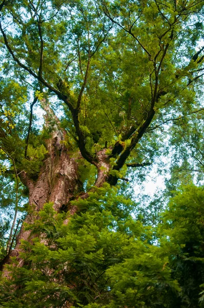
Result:
{"label": "thick leaning reddish-brown main trunk alone, without the shorter limb beside it", "polygon": [[[82,190],[82,183],[78,179],[78,164],[75,158],[70,156],[68,148],[65,146],[66,133],[56,130],[52,133],[52,138],[47,141],[48,157],[43,162],[36,181],[32,180],[26,172],[21,173],[21,181],[29,189],[29,205],[34,207],[37,214],[47,202],[53,202],[54,210],[57,212],[65,208],[74,214],[77,208],[72,206],[67,208],[70,200]],[[36,216],[36,215],[34,215]],[[28,215],[25,222],[32,223],[34,218]],[[16,246],[3,264],[10,262],[10,257],[16,257],[18,266],[23,265],[23,260],[19,257],[21,252],[21,240],[29,240],[30,231],[21,230],[16,239]],[[2,264],[2,266],[3,266]],[[5,271],[5,275],[8,273]]]}

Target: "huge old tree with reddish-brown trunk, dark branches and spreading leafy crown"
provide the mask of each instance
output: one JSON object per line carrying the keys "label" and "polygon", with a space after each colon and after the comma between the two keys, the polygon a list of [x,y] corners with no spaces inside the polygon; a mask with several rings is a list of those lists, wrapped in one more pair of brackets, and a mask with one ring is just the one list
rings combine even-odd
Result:
{"label": "huge old tree with reddish-brown trunk, dark branches and spreading leafy crown", "polygon": [[28,210],[22,191],[34,206],[25,223],[36,225],[45,203],[73,215],[77,200],[158,158],[162,125],[202,110],[203,2],[5,0],[0,9],[1,169],[15,212],[3,263],[16,256],[22,266],[20,242],[32,241],[22,226],[12,249],[17,212]]}

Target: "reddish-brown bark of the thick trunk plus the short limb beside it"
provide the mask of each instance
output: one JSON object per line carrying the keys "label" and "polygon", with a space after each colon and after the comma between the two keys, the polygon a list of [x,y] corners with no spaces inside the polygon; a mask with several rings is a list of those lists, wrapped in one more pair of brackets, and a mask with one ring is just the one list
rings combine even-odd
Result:
{"label": "reddish-brown bark of the thick trunk plus the short limb beside it", "polygon": [[[49,103],[44,100],[42,107],[46,111],[45,125],[52,129],[51,138],[47,140],[46,146],[48,150],[47,158],[43,162],[43,166],[39,172],[37,180],[33,180],[25,171],[21,172],[21,181],[29,189],[29,204],[34,208],[34,215],[28,215],[25,219],[26,223],[33,223],[37,213],[43,208],[47,202],[53,202],[54,210],[69,210],[74,214],[77,210],[76,206],[70,205],[70,201],[76,198],[88,198],[88,192],[83,191],[83,184],[78,178],[77,159],[73,158],[66,147],[65,140],[67,133],[60,128],[60,122]],[[54,121],[53,121],[54,120]],[[54,122],[54,125],[51,123]],[[95,160],[97,161],[97,179],[96,187],[100,187],[108,179],[110,171],[109,158],[106,155],[106,148],[97,152]],[[79,153],[78,158],[82,158]],[[68,223],[68,220],[65,221]],[[16,246],[10,255],[6,256],[3,264],[10,262],[10,257],[17,257],[18,266],[23,265],[23,260],[19,257],[21,252],[21,240],[31,240],[30,231],[25,230],[24,225],[16,239]],[[1,268],[0,268],[1,269]],[[4,272],[8,276],[7,271]]]}

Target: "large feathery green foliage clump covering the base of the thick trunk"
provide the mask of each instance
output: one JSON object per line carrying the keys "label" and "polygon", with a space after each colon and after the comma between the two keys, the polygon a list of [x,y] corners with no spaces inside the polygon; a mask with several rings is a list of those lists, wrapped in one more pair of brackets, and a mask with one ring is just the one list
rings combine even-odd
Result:
{"label": "large feathery green foliage clump covering the base of the thick trunk", "polygon": [[75,307],[154,307],[166,302],[170,290],[180,291],[163,249],[150,244],[150,228],[128,213],[123,216],[121,207],[128,210],[129,200],[104,187],[75,202],[89,208],[71,217],[57,214],[47,203],[39,218],[25,225],[32,240],[22,241],[24,266],[16,266],[15,258],[7,265],[3,307],[68,302]]}

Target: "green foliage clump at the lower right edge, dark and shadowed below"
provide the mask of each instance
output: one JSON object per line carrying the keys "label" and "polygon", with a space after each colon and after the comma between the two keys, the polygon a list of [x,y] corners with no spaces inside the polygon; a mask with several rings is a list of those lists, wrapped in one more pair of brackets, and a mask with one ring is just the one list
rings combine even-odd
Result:
{"label": "green foliage clump at the lower right edge, dark and shadowed below", "polygon": [[161,246],[166,249],[172,275],[181,286],[180,298],[172,298],[171,307],[203,307],[203,298],[199,300],[204,268],[203,197],[203,186],[182,187],[170,200],[159,227],[166,237]]}

